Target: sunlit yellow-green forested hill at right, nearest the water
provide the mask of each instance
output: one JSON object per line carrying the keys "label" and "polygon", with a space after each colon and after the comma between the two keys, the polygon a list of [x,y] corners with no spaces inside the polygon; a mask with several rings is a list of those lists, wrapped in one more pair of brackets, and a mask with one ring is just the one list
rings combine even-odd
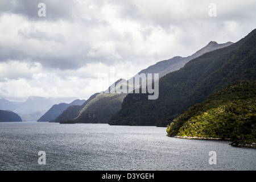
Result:
{"label": "sunlit yellow-green forested hill at right, nearest the water", "polygon": [[167,133],[256,142],[256,81],[238,81],[212,94],[174,119]]}

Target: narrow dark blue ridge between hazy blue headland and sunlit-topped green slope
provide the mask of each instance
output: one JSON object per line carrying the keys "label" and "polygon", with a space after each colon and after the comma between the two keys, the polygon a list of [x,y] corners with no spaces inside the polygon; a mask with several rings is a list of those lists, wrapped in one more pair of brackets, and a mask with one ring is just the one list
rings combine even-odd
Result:
{"label": "narrow dark blue ridge between hazy blue headland and sunlit-topped green slope", "polygon": [[88,100],[86,100],[84,102],[84,104],[82,104],[81,106],[71,105],[71,106],[67,107],[67,109],[65,109],[56,119],[52,120],[51,122],[59,123],[60,121],[67,121],[67,120],[75,119],[79,115],[81,109],[84,108],[86,106],[86,104],[88,104],[88,102],[93,100],[93,98],[95,98],[98,94],[100,94],[100,93],[95,93],[92,96],[90,96],[90,98],[88,98]]}

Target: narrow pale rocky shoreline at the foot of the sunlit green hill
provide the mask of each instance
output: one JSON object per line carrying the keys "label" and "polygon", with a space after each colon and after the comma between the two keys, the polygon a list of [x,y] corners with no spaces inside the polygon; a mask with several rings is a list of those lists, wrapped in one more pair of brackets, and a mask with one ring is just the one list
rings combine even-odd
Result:
{"label": "narrow pale rocky shoreline at the foot of the sunlit green hill", "polygon": [[[214,138],[214,137],[188,137],[188,136],[171,136],[168,135],[168,137],[174,137],[174,138],[183,138],[183,139],[203,139],[203,140],[230,140],[230,138]],[[241,147],[241,148],[256,148],[256,143],[246,143],[246,144],[242,144],[242,143],[229,143],[230,146],[232,147]]]}

